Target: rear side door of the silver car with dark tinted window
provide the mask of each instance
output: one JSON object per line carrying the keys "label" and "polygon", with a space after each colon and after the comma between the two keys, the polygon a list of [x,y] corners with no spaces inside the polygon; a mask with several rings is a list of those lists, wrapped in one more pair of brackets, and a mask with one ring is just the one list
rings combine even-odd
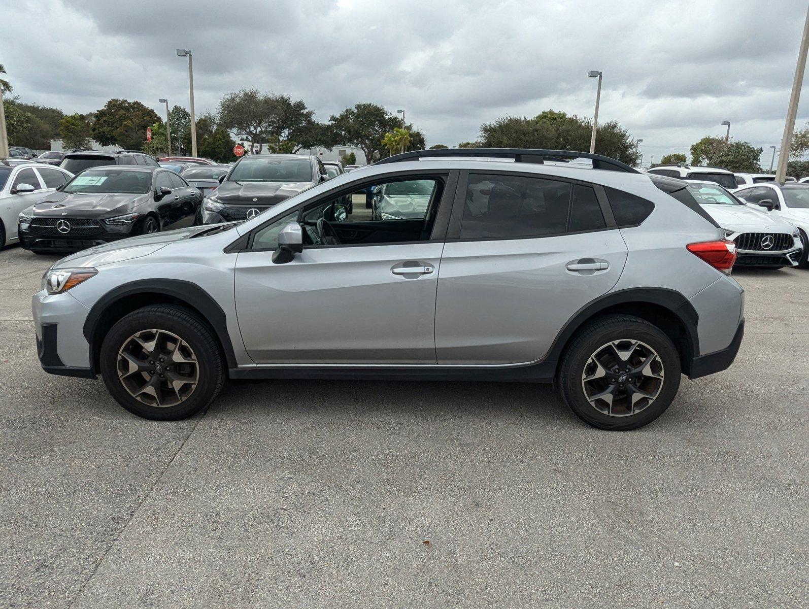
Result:
{"label": "rear side door of the silver car with dark tinted window", "polygon": [[438,273],[438,363],[542,359],[576,311],[616,285],[626,256],[600,187],[462,172]]}

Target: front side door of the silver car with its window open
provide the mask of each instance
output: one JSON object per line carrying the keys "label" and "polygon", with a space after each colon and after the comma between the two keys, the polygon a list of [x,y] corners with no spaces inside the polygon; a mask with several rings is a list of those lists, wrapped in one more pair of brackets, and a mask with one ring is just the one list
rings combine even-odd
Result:
{"label": "front side door of the silver car with its window open", "polygon": [[[393,205],[379,221],[365,208],[364,192],[354,194],[356,219],[345,206],[352,193],[340,192],[254,231],[238,254],[235,280],[239,329],[254,362],[436,363],[435,298],[444,244],[443,235],[430,237],[448,189],[445,176],[409,181],[418,184],[394,189],[399,212]],[[320,219],[328,220],[325,229],[321,223],[319,230]],[[303,226],[308,244],[290,262],[274,264],[277,232],[289,222]]]}

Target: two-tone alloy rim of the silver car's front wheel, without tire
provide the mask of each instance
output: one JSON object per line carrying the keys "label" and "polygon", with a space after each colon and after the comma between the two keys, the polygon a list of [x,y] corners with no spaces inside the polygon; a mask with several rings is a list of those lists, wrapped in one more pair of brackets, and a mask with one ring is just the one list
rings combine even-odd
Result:
{"label": "two-tone alloy rim of the silver car's front wheel, without tire", "polygon": [[118,351],[116,368],[129,395],[157,408],[188,400],[199,381],[193,349],[166,330],[142,330],[129,336]]}

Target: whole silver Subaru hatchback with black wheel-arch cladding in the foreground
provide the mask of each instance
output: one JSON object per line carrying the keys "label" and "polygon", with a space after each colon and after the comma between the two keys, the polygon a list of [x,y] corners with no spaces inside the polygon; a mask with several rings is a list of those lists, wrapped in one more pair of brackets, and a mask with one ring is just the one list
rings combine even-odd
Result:
{"label": "whole silver Subaru hatchback with black wheel-arch cladding in the foreground", "polygon": [[[420,214],[361,205],[404,182]],[[398,154],[60,260],[33,298],[40,362],[159,420],[228,378],[442,379],[555,383],[587,423],[637,428],[743,336],[735,243],[687,185],[570,151]]]}

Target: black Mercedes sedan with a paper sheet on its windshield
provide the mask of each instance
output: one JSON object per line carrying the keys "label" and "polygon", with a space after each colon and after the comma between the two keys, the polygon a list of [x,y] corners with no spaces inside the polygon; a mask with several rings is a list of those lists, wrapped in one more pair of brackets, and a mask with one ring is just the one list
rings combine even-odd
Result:
{"label": "black Mercedes sedan with a paper sheet on its windshield", "polygon": [[197,188],[162,167],[93,167],[25,209],[19,240],[32,252],[74,252],[191,226],[201,201]]}

